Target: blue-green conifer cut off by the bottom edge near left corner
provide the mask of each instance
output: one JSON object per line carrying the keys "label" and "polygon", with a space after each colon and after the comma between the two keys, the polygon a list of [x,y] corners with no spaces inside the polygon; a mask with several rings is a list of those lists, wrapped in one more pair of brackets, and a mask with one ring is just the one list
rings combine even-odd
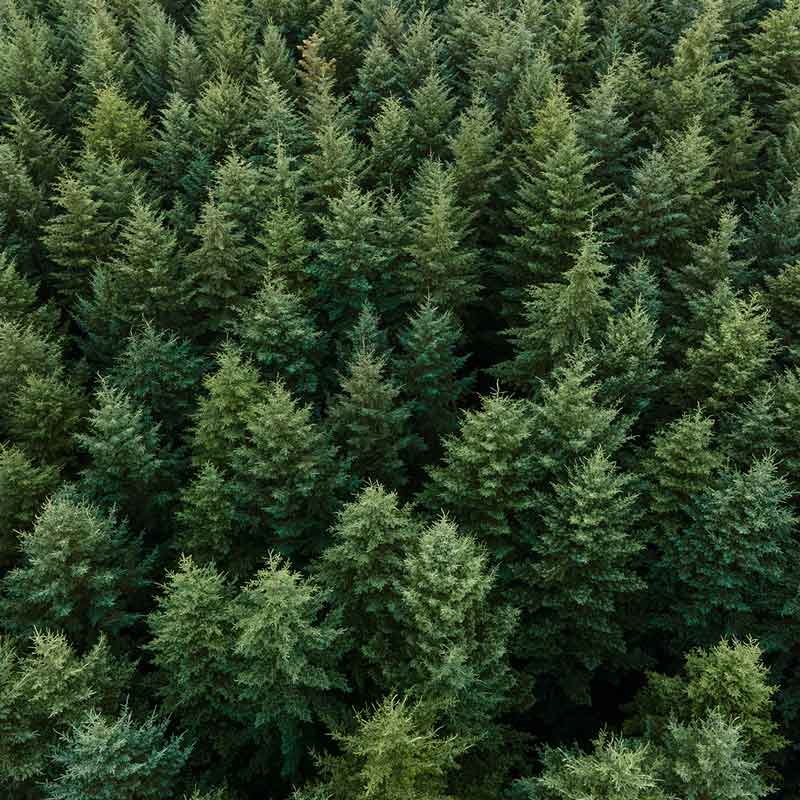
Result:
{"label": "blue-green conifer cut off by the bottom edge near left corner", "polygon": [[89,792],[97,800],[176,797],[191,745],[169,736],[168,724],[155,714],[138,724],[127,708],[115,720],[89,711],[55,750],[60,774],[47,783],[46,800],[80,800]]}

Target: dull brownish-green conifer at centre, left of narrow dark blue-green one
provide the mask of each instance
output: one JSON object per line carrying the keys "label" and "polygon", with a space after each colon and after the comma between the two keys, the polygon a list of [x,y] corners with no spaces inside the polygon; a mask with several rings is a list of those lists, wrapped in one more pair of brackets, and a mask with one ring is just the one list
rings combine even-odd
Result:
{"label": "dull brownish-green conifer at centre, left of narrow dark blue-green one", "polygon": [[359,350],[346,369],[330,406],[333,438],[352,460],[354,478],[401,487],[408,480],[403,454],[412,445],[411,411],[400,388],[385,377],[384,357]]}

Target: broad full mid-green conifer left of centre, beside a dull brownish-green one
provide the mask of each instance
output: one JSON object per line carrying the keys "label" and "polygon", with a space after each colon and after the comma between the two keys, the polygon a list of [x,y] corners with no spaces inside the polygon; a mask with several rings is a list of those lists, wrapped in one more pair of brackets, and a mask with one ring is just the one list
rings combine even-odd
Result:
{"label": "broad full mid-green conifer left of centre, beside a dull brownish-green one", "polygon": [[345,465],[311,407],[280,381],[247,414],[246,438],[231,454],[231,470],[251,540],[299,561],[320,548],[345,489]]}

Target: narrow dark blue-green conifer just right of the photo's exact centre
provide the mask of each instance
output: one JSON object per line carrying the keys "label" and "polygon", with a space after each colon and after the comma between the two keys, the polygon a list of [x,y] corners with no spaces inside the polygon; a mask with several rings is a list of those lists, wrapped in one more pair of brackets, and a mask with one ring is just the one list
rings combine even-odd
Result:
{"label": "narrow dark blue-green conifer just right of the photo's exact centre", "polygon": [[428,451],[458,427],[458,407],[472,381],[462,377],[468,357],[457,355],[463,331],[453,313],[429,298],[409,316],[399,334],[397,375],[408,399],[410,421]]}

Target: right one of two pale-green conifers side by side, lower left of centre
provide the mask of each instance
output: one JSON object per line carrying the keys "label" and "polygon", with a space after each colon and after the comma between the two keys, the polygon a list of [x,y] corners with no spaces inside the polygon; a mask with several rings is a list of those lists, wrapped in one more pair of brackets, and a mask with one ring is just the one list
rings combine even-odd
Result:
{"label": "right one of two pale-green conifers side by side, lower left of centre", "polygon": [[270,554],[236,600],[239,696],[256,729],[276,728],[282,773],[297,774],[302,728],[324,714],[330,693],[346,691],[337,661],[344,631],[326,608],[328,592]]}

